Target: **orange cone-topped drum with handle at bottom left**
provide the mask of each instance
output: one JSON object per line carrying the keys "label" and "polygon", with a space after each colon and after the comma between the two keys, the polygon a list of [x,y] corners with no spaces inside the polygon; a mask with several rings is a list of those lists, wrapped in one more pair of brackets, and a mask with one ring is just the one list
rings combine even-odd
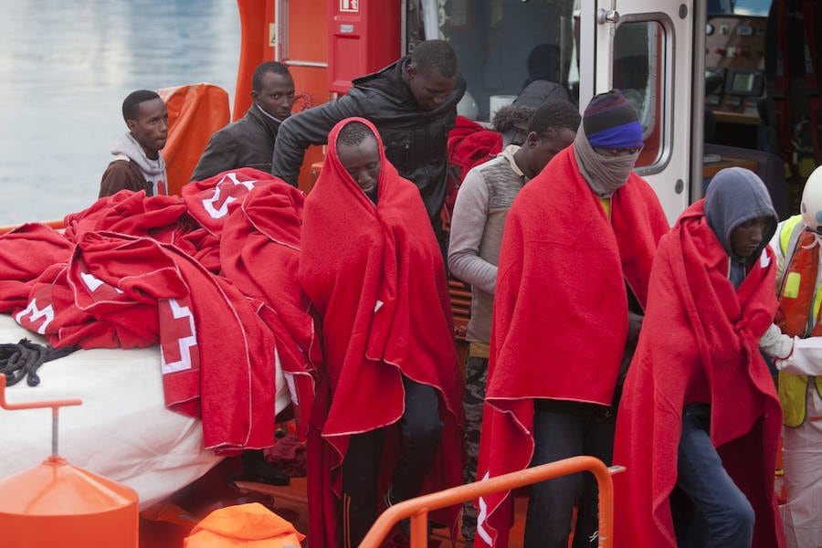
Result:
{"label": "orange cone-topped drum with handle at bottom left", "polygon": [[0,531],[5,548],[137,548],[137,491],[68,464],[57,454],[58,408],[80,400],[27,404],[5,401],[0,374],[0,407],[52,409],[52,455],[32,469],[0,480]]}

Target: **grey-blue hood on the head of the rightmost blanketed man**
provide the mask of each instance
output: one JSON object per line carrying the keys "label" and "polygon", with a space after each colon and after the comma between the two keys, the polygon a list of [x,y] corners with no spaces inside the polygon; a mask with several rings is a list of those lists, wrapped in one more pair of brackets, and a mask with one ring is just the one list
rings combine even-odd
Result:
{"label": "grey-blue hood on the head of the rightmost blanketed man", "polygon": [[[731,233],[744,222],[757,217],[769,217],[770,226],[759,248],[748,258],[734,257],[731,249]],[[731,281],[736,287],[745,277],[745,266],[759,258],[760,253],[776,232],[778,217],[771,196],[762,179],[742,167],[723,169],[711,179],[705,194],[705,218],[722,248],[731,258]]]}

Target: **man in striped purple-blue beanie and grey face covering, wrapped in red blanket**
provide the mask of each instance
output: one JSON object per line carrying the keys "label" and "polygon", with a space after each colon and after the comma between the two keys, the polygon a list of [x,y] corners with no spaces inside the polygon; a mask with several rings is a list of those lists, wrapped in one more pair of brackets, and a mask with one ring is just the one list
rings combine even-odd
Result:
{"label": "man in striped purple-blue beanie and grey face covering, wrapped in red blanket", "polygon": [[[633,173],[642,145],[622,94],[597,95],[574,143],[514,198],[497,266],[478,479],[578,455],[610,464],[619,377],[669,229],[657,195]],[[533,485],[524,546],[567,548],[576,504],[574,545],[595,544],[595,496],[583,474]],[[511,506],[510,492],[479,500],[475,547],[508,545]]]}

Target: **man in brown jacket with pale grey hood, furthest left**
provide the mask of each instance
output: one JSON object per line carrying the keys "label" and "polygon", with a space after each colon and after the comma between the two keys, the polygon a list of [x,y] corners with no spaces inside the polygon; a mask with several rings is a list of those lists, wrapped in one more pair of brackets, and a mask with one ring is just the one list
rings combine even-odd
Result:
{"label": "man in brown jacket with pale grey hood, furthest left", "polygon": [[121,190],[168,195],[168,174],[160,151],[168,137],[168,110],[151,90],[132,91],[122,101],[122,118],[129,131],[114,141],[109,163],[100,181],[100,195]]}

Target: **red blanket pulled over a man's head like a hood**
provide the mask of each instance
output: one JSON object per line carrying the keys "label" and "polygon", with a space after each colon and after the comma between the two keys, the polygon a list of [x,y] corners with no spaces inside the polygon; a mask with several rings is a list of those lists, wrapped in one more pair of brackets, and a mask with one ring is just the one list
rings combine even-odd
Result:
{"label": "red blanket pulled over a man's head like a hood", "polygon": [[[370,122],[355,120],[380,141]],[[462,382],[437,240],[416,186],[385,160],[381,141],[378,205],[346,173],[336,153],[345,122],[329,135],[328,155],[305,201],[299,274],[322,319],[325,358],[311,414],[321,441],[310,434],[309,443],[320,448],[309,450],[309,537],[329,547],[341,538],[334,517],[349,438],[400,419],[402,375],[440,395],[445,427],[423,492],[462,482]],[[384,458],[384,476],[392,465]],[[453,524],[457,511],[434,519]]]}

